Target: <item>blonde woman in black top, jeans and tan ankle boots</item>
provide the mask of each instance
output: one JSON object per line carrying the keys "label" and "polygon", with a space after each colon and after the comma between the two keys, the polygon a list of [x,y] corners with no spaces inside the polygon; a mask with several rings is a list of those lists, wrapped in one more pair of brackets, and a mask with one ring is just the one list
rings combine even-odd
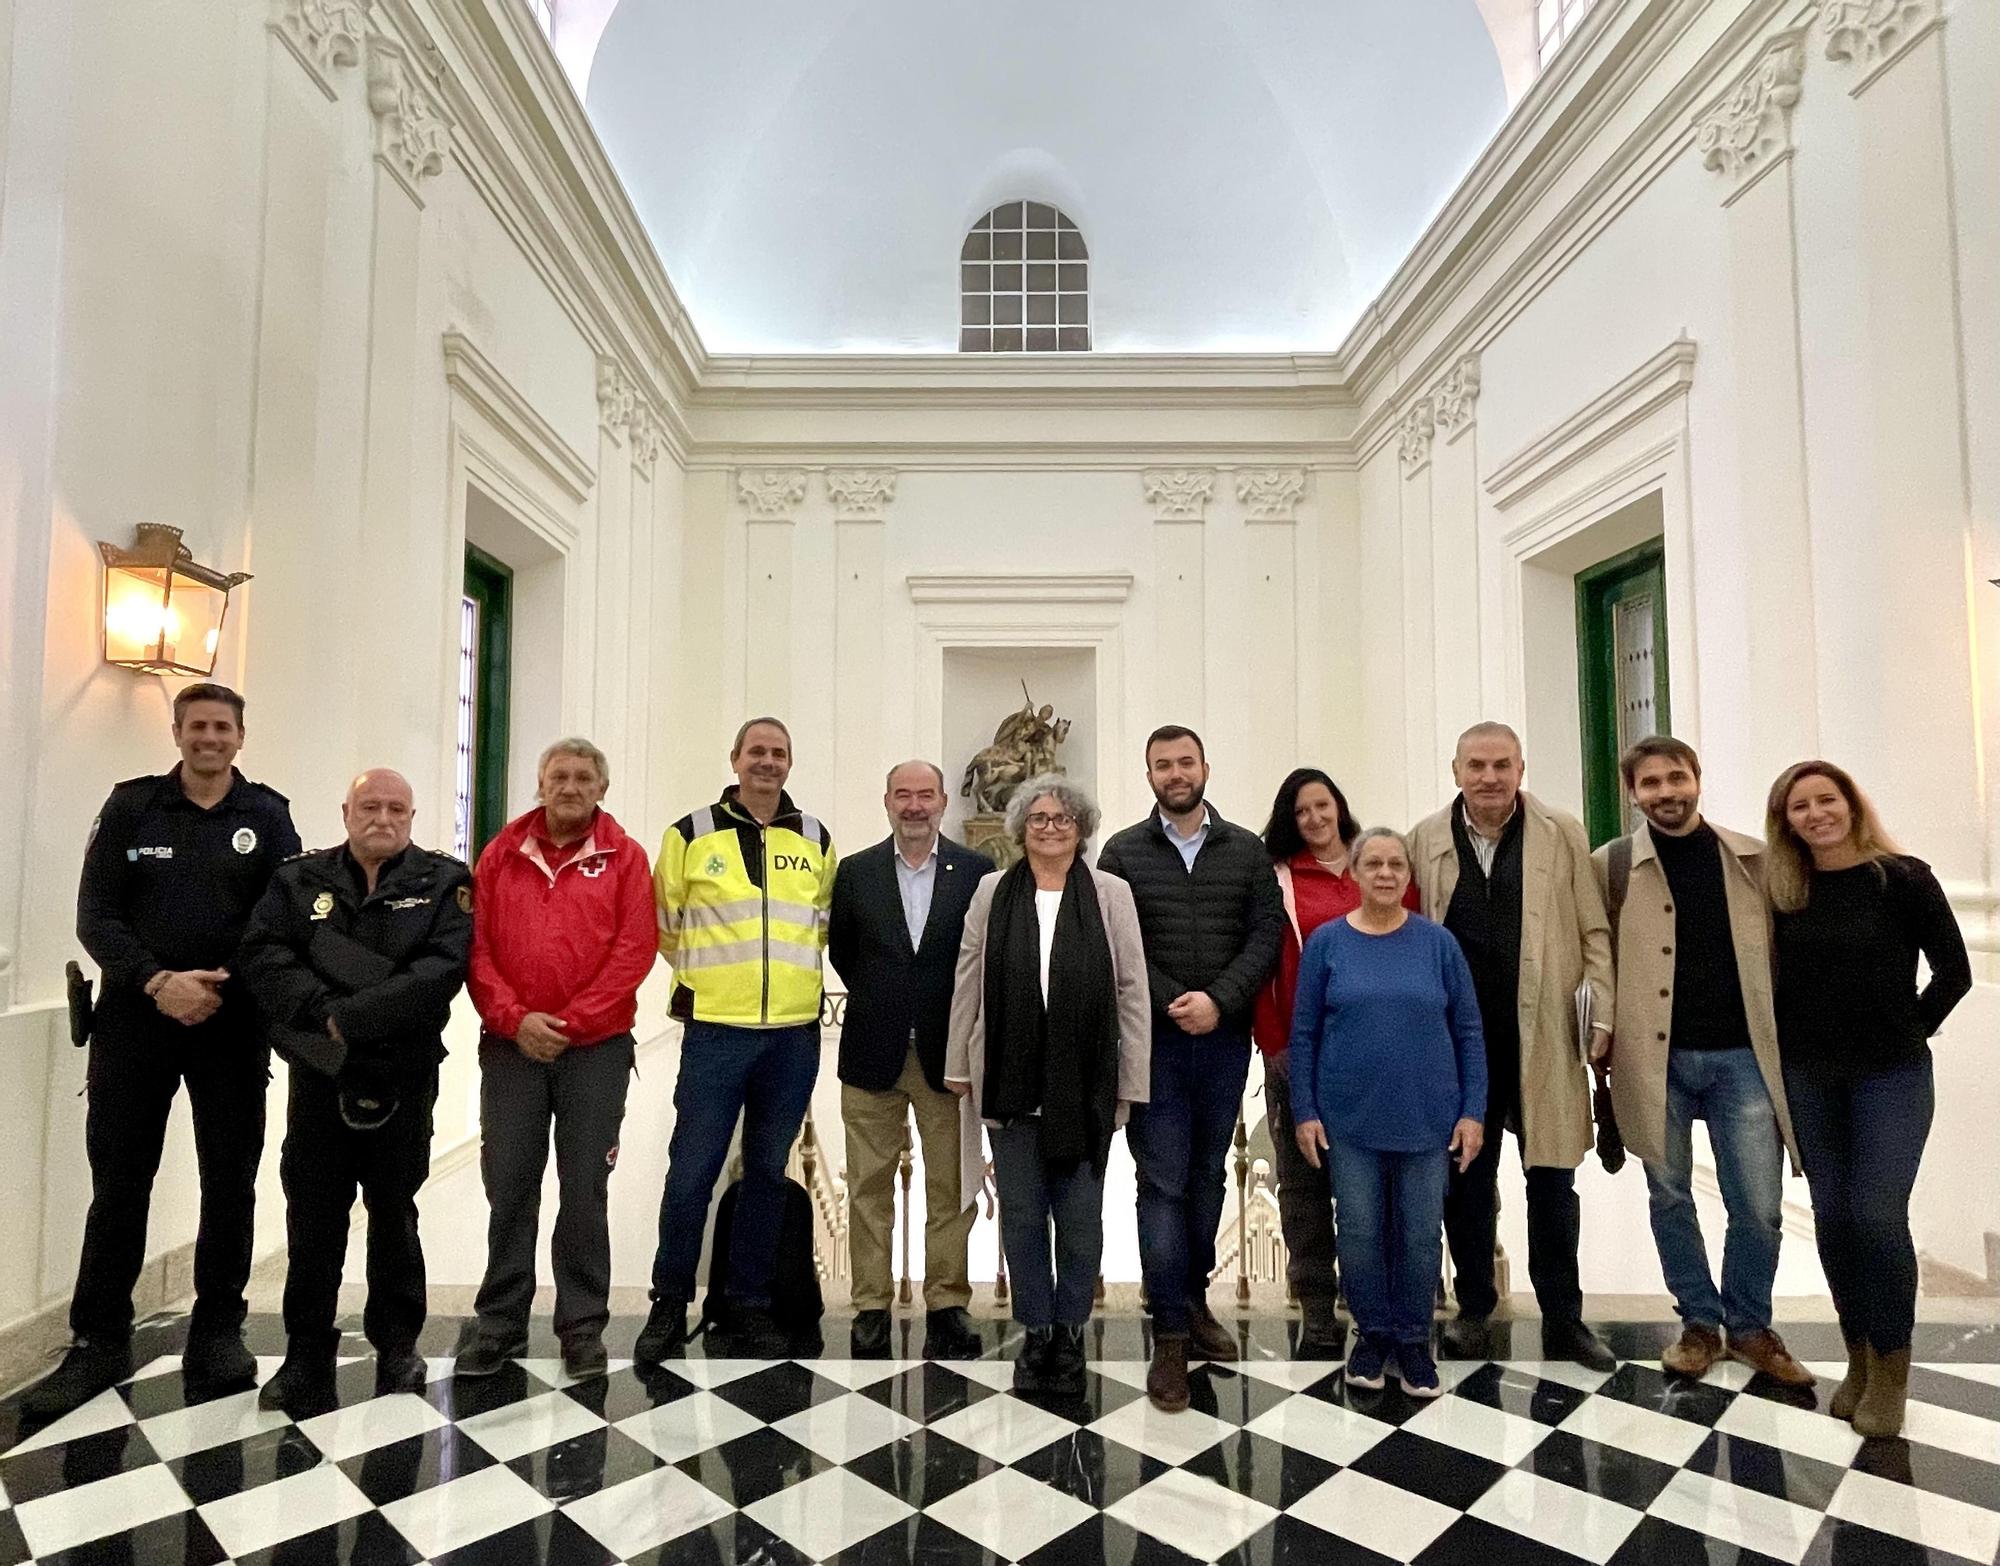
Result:
{"label": "blonde woman in black top, jeans and tan ankle boots", "polygon": [[1934,1110],[1928,1040],[1972,988],[1972,964],[1930,866],[1896,852],[1832,762],[1778,774],[1764,836],[1784,1088],[1848,1342],[1832,1412],[1894,1436],[1916,1322],[1910,1190]]}

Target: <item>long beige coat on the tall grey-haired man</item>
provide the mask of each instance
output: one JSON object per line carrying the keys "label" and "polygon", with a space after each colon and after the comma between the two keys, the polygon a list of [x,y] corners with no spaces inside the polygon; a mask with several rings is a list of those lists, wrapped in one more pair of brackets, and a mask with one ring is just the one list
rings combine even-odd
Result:
{"label": "long beige coat on the tall grey-haired man", "polygon": [[[1452,812],[1410,834],[1424,916],[1444,922],[1458,886]],[[1576,990],[1590,982],[1592,1018],[1612,1022],[1612,930],[1590,874],[1582,822],[1520,796],[1520,1104],[1522,1160],[1576,1168],[1590,1152],[1590,1068],[1576,1044]]]}

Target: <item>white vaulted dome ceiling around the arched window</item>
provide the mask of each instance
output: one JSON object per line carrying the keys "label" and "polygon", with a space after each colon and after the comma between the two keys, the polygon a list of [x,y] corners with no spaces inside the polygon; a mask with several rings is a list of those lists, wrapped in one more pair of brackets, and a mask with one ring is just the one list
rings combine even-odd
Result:
{"label": "white vaulted dome ceiling around the arched window", "polygon": [[1082,228],[1098,350],[1312,350],[1506,94],[1476,0],[616,0],[588,106],[714,352],[956,348],[1012,198]]}

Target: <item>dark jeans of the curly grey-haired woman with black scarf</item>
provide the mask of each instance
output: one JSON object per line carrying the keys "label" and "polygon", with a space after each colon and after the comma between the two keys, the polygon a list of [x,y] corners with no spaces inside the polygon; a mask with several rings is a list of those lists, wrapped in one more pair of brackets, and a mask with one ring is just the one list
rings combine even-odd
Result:
{"label": "dark jeans of the curly grey-haired woman with black scarf", "polygon": [[[1006,1248],[1014,1320],[1022,1326],[1082,1326],[1096,1302],[1104,1262],[1104,1176],[1090,1162],[1068,1174],[1042,1164],[1034,1120],[988,1126],[994,1186],[1000,1192],[1000,1244]],[[1048,1240],[1054,1224],[1056,1258]]]}

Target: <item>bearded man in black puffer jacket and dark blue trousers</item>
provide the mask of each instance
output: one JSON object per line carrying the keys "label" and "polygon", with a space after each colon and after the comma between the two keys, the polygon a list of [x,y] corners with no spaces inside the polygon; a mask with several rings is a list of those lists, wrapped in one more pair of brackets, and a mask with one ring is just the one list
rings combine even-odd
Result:
{"label": "bearded man in black puffer jacket and dark blue trousers", "polygon": [[1152,1102],[1132,1106],[1138,1252],[1152,1306],[1146,1394],[1188,1406],[1188,1348],[1234,1360],[1208,1308],[1224,1166],[1250,1072],[1250,1008],[1278,966],[1284,900],[1262,840],[1206,802],[1208,756],[1192,728],[1146,740],[1160,808],[1118,832],[1098,868],[1132,886],[1152,978]]}

